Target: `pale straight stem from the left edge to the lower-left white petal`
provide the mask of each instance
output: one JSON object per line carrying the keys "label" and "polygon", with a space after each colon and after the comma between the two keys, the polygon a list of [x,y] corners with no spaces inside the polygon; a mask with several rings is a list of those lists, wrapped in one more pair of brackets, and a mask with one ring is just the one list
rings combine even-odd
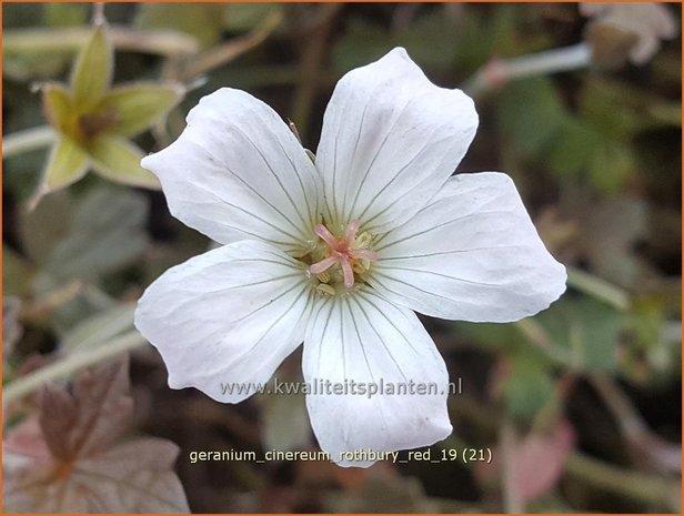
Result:
{"label": "pale straight stem from the left edge to the lower-left white petal", "polygon": [[8,403],[39,389],[48,382],[69,377],[79,370],[122,355],[135,347],[142,346],[147,342],[140,333],[133,331],[113,338],[107,344],[68,355],[54,364],[47,365],[8,384],[3,389],[2,401],[7,406]]}

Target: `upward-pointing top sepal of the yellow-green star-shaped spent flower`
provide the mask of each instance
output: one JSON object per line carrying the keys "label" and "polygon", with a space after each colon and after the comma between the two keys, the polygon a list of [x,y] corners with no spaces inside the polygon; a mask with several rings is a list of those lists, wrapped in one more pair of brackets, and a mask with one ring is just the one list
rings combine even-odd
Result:
{"label": "upward-pointing top sepal of the yellow-green star-shaped spent flower", "polygon": [[79,52],[71,73],[73,105],[79,112],[92,110],[110,87],[113,48],[105,26],[97,26]]}

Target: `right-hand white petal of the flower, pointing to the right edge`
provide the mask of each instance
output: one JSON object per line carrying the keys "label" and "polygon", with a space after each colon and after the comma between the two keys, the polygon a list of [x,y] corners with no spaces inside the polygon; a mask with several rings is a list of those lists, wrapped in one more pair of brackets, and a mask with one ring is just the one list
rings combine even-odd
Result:
{"label": "right-hand white petal of the flower, pointing to the right edge", "polygon": [[565,267],[544,247],[513,181],[497,172],[453,176],[375,250],[371,285],[435,317],[517,321],[565,291]]}

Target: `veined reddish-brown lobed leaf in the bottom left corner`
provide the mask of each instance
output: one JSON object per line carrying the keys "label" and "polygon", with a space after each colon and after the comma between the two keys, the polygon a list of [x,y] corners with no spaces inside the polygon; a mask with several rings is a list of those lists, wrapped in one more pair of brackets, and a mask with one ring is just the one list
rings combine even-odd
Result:
{"label": "veined reddish-brown lobed leaf in the bottom left corner", "polygon": [[21,424],[4,442],[4,508],[188,512],[173,473],[179,453],[173,443],[158,438],[117,443],[132,412],[128,361],[81,374],[73,394],[56,385],[46,387],[38,418]]}

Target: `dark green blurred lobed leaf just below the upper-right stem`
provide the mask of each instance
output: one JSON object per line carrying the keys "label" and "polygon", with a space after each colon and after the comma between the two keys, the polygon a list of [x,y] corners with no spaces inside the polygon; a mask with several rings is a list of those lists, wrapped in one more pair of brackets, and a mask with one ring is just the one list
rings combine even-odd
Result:
{"label": "dark green blurred lobed leaf just below the upper-right stem", "polygon": [[612,88],[587,81],[573,113],[550,79],[525,79],[505,88],[499,118],[522,158],[561,178],[586,178],[598,191],[616,192],[636,172],[632,139],[640,119],[624,103],[616,108],[615,99]]}

